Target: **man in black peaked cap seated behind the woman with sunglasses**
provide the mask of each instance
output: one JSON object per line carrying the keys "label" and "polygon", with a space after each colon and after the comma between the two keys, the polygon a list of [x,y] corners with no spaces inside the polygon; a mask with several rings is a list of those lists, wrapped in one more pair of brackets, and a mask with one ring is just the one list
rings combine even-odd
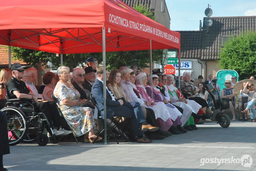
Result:
{"label": "man in black peaked cap seated behind the woman with sunglasses", "polygon": [[90,92],[92,91],[92,85],[96,80],[96,75],[95,73],[97,72],[97,70],[95,70],[93,67],[88,66],[84,69],[85,74],[84,75],[80,75],[80,77],[84,76],[85,80],[82,84],[83,88],[89,90]]}

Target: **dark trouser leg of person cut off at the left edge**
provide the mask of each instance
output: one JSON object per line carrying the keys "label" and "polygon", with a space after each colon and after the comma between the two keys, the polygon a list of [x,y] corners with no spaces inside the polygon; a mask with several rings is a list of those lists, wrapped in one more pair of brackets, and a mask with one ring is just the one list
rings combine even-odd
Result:
{"label": "dark trouser leg of person cut off at the left edge", "polygon": [[5,154],[10,154],[7,116],[5,112],[0,111],[0,156]]}

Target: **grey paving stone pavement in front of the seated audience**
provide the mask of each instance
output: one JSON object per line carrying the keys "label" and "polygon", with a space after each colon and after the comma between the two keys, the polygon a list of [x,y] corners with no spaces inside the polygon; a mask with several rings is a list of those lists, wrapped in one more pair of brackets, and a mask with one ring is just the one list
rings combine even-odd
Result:
{"label": "grey paving stone pavement in front of the seated audience", "polygon": [[[229,128],[216,123],[197,127],[198,130],[150,144],[126,143],[121,138],[120,144],[111,140],[107,145],[20,143],[10,147],[11,154],[4,155],[4,165],[9,171],[256,171],[256,123],[231,121]],[[243,155],[252,157],[252,163],[247,163],[250,167],[240,163],[207,163],[210,158],[240,159]]]}

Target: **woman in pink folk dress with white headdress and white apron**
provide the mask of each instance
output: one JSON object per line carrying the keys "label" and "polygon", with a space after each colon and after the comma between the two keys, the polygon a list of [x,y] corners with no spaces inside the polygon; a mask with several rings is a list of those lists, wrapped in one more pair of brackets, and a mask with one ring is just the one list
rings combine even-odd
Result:
{"label": "woman in pink folk dress with white headdress and white apron", "polygon": [[158,111],[155,113],[155,117],[161,126],[161,130],[168,131],[173,124],[172,120],[170,119],[169,111],[167,110],[164,102],[155,102],[153,99],[148,97],[147,91],[145,89],[145,85],[147,85],[147,74],[140,73],[135,78],[137,83],[135,86],[136,90],[139,92],[143,99],[148,101],[149,106]]}

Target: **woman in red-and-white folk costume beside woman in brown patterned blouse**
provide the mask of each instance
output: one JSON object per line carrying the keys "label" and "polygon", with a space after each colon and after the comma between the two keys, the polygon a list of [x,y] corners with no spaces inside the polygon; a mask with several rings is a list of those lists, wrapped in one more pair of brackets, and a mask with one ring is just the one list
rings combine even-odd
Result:
{"label": "woman in red-and-white folk costume beside woman in brown patterned blouse", "polygon": [[[172,95],[173,97],[177,97],[177,99],[181,99],[181,98],[185,98],[183,96],[183,94],[176,88],[174,87],[175,82],[173,81],[173,75],[167,75],[167,88],[168,88],[168,92],[170,95]],[[202,118],[204,111],[202,110],[202,106],[199,105],[197,102],[195,102],[194,100],[186,100],[188,102],[188,105],[192,107],[192,109],[195,111],[194,113],[197,113],[196,115],[194,113],[192,113],[191,115],[193,116],[193,118],[195,119],[195,123],[197,123],[199,121],[199,119]],[[194,124],[194,119],[189,119],[188,122],[190,121],[190,126],[193,129],[198,129],[196,128],[195,124]],[[192,121],[193,120],[193,121]],[[188,122],[184,125],[185,126],[188,125]],[[194,125],[194,126],[193,126]],[[187,130],[189,130],[189,128],[186,128]]]}

